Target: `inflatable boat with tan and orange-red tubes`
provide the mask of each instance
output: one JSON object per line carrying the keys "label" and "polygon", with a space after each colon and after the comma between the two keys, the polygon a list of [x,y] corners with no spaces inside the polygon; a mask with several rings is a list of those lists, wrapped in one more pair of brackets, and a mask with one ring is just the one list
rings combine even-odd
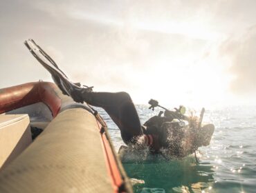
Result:
{"label": "inflatable boat with tan and orange-red tubes", "polygon": [[132,192],[101,117],[54,83],[0,90],[0,192]]}

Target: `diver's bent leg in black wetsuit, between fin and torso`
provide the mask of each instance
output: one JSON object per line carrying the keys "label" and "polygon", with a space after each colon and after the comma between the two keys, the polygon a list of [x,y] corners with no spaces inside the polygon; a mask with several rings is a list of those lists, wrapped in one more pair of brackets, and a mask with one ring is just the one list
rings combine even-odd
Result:
{"label": "diver's bent leg in black wetsuit, between fin and torso", "polygon": [[143,135],[138,113],[126,92],[86,92],[84,101],[103,108],[118,125],[125,143],[135,143],[136,136]]}

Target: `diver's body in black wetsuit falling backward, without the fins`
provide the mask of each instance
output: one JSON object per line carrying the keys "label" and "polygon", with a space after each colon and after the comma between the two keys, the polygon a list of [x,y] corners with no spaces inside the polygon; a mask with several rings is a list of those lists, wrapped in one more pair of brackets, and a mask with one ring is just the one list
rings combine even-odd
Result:
{"label": "diver's body in black wetsuit falling backward, without the fins", "polygon": [[[161,116],[163,112],[160,112],[158,116],[153,116],[141,125],[138,112],[127,92],[92,92],[91,88],[82,88],[82,91],[74,90],[70,94],[77,103],[86,102],[103,108],[120,129],[122,140],[126,145],[138,147],[146,145],[154,153],[163,148],[170,150],[170,154],[175,156],[192,154],[197,148],[209,145],[214,131],[212,124],[202,128],[190,125],[190,127],[194,126],[194,129],[182,130],[185,123],[181,119],[190,121],[188,116],[181,113],[183,106],[176,109],[176,112],[165,109],[164,116]],[[149,104],[153,110],[160,106],[158,101],[153,99]],[[179,119],[179,122],[172,123],[174,119]]]}

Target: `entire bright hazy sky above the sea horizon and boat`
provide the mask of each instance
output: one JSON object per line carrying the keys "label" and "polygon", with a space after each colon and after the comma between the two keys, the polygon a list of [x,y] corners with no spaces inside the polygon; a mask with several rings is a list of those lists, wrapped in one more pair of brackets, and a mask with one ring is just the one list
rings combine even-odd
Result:
{"label": "entire bright hazy sky above the sea horizon and boat", "polygon": [[1,0],[0,88],[51,75],[34,39],[74,82],[134,103],[255,103],[254,0]]}

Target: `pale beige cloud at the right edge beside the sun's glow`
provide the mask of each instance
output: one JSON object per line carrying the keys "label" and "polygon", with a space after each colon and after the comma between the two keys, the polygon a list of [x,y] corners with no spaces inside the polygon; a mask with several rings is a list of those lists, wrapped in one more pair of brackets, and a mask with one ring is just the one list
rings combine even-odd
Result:
{"label": "pale beige cloud at the right edge beside the sun's glow", "polygon": [[235,94],[256,94],[256,26],[241,37],[230,37],[221,45],[221,52],[231,61],[230,73],[234,79],[230,89]]}

